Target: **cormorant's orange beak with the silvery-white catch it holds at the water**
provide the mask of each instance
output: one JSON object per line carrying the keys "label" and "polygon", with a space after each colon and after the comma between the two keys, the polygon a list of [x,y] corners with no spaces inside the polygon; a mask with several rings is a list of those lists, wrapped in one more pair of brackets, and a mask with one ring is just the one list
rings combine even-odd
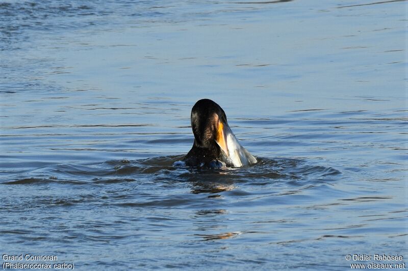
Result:
{"label": "cormorant's orange beak with the silvery-white catch it holds at the water", "polygon": [[215,141],[225,153],[227,160],[234,166],[240,167],[257,163],[257,159],[241,146],[230,126],[222,122],[221,119],[218,119]]}

